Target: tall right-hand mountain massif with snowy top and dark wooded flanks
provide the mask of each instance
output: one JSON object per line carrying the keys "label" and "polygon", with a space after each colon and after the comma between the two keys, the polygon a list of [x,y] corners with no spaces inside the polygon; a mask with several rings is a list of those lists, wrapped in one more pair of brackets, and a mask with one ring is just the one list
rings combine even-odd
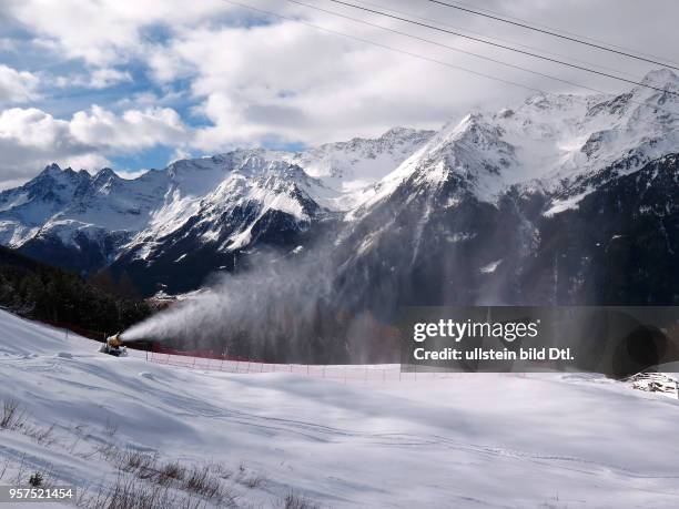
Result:
{"label": "tall right-hand mountain massif with snowy top and dark wooded flanks", "polygon": [[470,114],[364,191],[340,301],[676,304],[678,152],[679,96],[645,88]]}

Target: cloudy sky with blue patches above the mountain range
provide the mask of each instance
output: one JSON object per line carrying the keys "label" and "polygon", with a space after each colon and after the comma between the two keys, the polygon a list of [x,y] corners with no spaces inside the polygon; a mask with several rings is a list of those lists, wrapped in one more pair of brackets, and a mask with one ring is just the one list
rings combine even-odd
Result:
{"label": "cloudy sky with blue patches above the mountain range", "polygon": [[[630,80],[659,67],[427,0],[347,1]],[[630,86],[331,0],[234,2],[0,0],[0,190],[52,162],[90,172],[111,166],[133,177],[234,147],[298,150],[397,125],[436,129],[536,89],[588,93],[356,20],[608,93]],[[679,61],[675,0],[652,8],[636,0],[466,2]]]}

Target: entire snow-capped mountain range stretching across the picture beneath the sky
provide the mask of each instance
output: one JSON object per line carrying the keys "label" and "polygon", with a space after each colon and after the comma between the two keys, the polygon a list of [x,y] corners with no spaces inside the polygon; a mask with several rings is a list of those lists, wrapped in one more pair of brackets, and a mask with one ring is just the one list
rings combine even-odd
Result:
{"label": "entire snow-capped mountain range stretching across the picture beneath the sky", "polygon": [[[237,150],[131,181],[52,165],[0,193],[0,242],[70,268],[109,266],[150,294],[159,283],[194,288],[260,246],[296,253],[330,236],[341,281],[359,301],[357,279],[369,293],[375,281],[405,278],[392,294],[407,302],[598,302],[582,285],[611,262],[595,263],[597,244],[610,241],[600,235],[630,240],[643,225],[646,246],[665,246],[660,265],[679,248],[679,78],[658,70],[645,83],[666,92],[538,94],[438,132],[393,129],[298,153]],[[576,218],[585,237],[568,232]],[[620,256],[641,256],[629,250]],[[531,296],[528,274],[545,281]],[[429,279],[434,287],[422,284]],[[630,298],[673,303],[678,294]]]}

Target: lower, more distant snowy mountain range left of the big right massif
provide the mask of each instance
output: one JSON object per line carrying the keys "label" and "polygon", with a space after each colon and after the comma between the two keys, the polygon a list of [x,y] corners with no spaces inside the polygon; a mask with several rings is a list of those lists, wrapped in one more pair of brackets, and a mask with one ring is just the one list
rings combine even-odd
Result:
{"label": "lower, more distant snowy mountain range left of the big right massif", "polygon": [[[351,204],[345,191],[357,179],[378,180],[428,135],[399,129],[300,153],[236,150],[178,161],[135,180],[110,169],[89,175],[51,165],[26,185],[0,193],[0,244],[83,274],[131,264],[112,273],[142,277],[134,267],[141,263],[161,267],[159,276],[165,273],[161,279],[168,282],[178,273],[195,273],[170,289],[195,288],[219,267],[232,269],[243,250],[306,242],[313,224]],[[312,170],[305,172],[301,162]],[[175,265],[193,252],[202,255],[202,261],[194,257],[195,271],[189,261]],[[138,283],[144,292],[158,289]]]}

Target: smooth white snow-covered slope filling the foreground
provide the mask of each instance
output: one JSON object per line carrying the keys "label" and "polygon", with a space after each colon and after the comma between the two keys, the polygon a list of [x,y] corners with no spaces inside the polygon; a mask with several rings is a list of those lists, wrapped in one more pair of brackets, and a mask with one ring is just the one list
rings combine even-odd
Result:
{"label": "smooth white snow-covered slope filling the foreground", "polygon": [[[192,499],[207,507],[286,507],[291,493],[332,508],[679,507],[679,400],[628,384],[478,374],[342,384],[98,346],[0,312],[0,399],[26,410],[0,429],[0,485],[39,470],[87,486],[92,507],[121,478],[155,486],[135,464],[153,457],[154,469],[207,466],[222,495]],[[188,492],[176,477],[165,488]]]}

